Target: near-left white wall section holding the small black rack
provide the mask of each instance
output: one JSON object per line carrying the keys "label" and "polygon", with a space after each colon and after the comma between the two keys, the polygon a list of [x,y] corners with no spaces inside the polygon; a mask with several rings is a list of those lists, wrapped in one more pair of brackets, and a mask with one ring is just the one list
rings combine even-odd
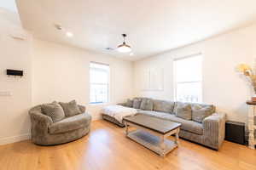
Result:
{"label": "near-left white wall section holding the small black rack", "polygon": [[[0,8],[0,144],[29,138],[27,111],[31,106],[31,37],[17,40],[10,35],[26,32],[19,16]],[[8,77],[6,69],[23,70],[24,77]]]}

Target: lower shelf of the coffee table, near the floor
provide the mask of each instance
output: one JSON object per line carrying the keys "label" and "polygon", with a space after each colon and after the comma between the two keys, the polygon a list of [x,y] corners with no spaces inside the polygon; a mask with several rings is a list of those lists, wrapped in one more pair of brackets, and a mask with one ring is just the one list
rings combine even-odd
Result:
{"label": "lower shelf of the coffee table, near the floor", "polygon": [[175,141],[165,139],[164,143],[161,143],[159,136],[155,136],[154,134],[148,133],[141,129],[129,132],[126,136],[137,143],[142,144],[149,150],[154,151],[160,156],[166,156],[167,153],[177,148]]}

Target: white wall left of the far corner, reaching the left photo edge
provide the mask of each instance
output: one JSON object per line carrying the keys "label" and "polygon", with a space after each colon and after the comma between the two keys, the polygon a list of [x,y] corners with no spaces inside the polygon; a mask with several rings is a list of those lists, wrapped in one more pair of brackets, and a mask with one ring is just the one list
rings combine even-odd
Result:
{"label": "white wall left of the far corner, reaching the left photo edge", "polygon": [[[18,14],[0,8],[0,144],[30,138],[27,111],[33,105],[76,99],[94,119],[100,118],[102,105],[88,105],[90,61],[110,65],[111,103],[133,96],[132,62],[32,39]],[[23,70],[25,75],[8,77],[6,69]],[[11,95],[1,96],[6,93]]]}

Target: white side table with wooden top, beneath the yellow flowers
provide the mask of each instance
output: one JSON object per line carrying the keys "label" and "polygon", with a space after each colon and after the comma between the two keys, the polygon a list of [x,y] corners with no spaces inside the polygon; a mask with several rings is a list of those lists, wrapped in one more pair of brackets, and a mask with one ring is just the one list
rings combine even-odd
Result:
{"label": "white side table with wooden top, beneath the yellow flowers", "polygon": [[249,130],[249,140],[248,145],[249,148],[255,150],[256,139],[254,136],[254,131],[256,129],[256,125],[254,122],[254,116],[256,116],[256,102],[255,101],[247,101],[248,105],[248,130]]}

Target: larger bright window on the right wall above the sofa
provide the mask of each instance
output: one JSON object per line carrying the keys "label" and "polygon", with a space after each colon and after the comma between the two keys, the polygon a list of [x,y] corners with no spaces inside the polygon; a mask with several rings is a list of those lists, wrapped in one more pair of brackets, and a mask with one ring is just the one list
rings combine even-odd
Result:
{"label": "larger bright window on the right wall above the sofa", "polygon": [[202,102],[202,55],[174,60],[175,98],[183,102]]}

